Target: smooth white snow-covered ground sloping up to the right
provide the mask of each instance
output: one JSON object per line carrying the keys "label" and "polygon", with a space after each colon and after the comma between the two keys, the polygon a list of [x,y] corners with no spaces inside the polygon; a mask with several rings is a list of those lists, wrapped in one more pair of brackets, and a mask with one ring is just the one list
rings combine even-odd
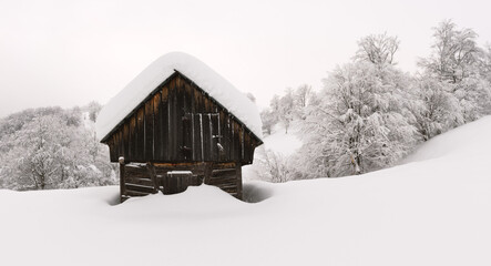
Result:
{"label": "smooth white snow-covered ground sloping up to the right", "polygon": [[361,176],[190,187],[0,191],[1,265],[491,265],[491,116]]}

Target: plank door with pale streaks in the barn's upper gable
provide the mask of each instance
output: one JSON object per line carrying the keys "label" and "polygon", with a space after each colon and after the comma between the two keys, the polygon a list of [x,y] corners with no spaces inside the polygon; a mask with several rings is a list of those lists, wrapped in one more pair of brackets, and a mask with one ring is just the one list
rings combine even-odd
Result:
{"label": "plank door with pale streaks in the barn's upper gable", "polygon": [[218,113],[188,113],[183,117],[183,145],[185,160],[217,161],[222,145]]}

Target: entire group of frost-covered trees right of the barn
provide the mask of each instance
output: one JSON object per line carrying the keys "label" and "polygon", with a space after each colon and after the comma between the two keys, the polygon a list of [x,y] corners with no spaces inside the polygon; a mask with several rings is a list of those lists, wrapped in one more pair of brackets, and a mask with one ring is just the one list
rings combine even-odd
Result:
{"label": "entire group of frost-covered trees right of the barn", "polygon": [[307,98],[299,96],[307,88],[299,88],[276,96],[268,115],[280,121],[285,108],[291,110],[304,145],[287,166],[285,158],[267,156],[266,172],[280,181],[366,173],[395,164],[419,141],[491,114],[491,47],[479,48],[475,32],[451,21],[434,28],[433,37],[416,76],[396,69],[396,37],[368,35],[323,91]]}

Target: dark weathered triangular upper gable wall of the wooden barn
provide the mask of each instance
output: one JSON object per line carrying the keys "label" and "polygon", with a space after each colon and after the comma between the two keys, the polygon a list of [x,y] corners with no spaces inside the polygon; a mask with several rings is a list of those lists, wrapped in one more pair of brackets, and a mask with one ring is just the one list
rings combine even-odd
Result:
{"label": "dark weathered triangular upper gable wall of the wooden barn", "polygon": [[186,76],[175,72],[109,136],[111,162],[239,162],[262,142]]}

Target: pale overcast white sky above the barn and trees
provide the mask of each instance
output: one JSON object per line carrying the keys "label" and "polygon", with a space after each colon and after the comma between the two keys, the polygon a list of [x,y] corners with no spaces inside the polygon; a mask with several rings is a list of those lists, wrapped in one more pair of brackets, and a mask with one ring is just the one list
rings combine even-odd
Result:
{"label": "pale overcast white sky above the barn and trees", "polygon": [[452,19],[491,41],[489,1],[0,0],[0,117],[27,108],[108,102],[160,55],[190,53],[259,105],[321,86],[356,42],[387,32],[415,71],[431,28]]}

